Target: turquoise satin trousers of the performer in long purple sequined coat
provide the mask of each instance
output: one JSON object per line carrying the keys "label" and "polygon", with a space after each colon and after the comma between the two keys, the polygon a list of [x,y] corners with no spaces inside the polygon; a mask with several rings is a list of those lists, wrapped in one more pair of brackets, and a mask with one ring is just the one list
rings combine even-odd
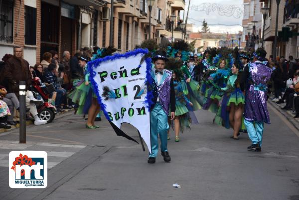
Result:
{"label": "turquoise satin trousers of the performer in long purple sequined coat", "polygon": [[248,136],[252,141],[252,144],[255,145],[259,143],[260,146],[262,146],[264,122],[250,122],[244,119],[244,124],[246,126]]}

